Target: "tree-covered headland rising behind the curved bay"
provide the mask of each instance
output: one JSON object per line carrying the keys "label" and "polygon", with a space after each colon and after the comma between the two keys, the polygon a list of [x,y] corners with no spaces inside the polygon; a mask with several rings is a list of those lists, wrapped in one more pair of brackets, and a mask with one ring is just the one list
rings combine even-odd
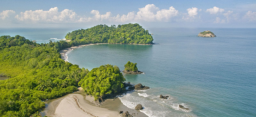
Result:
{"label": "tree-covered headland rising behind the curved bay", "polygon": [[139,24],[98,25],[88,29],[79,29],[68,33],[65,37],[74,43],[133,43],[133,44],[152,44],[153,37],[148,30]]}

